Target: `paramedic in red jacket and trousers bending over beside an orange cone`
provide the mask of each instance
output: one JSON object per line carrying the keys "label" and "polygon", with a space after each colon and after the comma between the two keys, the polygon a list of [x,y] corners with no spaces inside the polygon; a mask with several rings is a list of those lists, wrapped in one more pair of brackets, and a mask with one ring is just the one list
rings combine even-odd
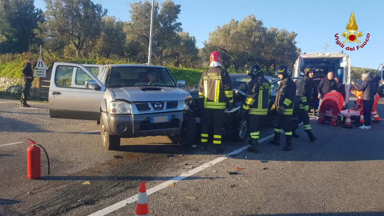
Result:
{"label": "paramedic in red jacket and trousers bending over beside an orange cone", "polygon": [[336,127],[337,117],[344,106],[344,97],[338,91],[332,90],[323,97],[320,105],[319,125],[323,125],[325,113],[328,108],[332,109],[331,127]]}

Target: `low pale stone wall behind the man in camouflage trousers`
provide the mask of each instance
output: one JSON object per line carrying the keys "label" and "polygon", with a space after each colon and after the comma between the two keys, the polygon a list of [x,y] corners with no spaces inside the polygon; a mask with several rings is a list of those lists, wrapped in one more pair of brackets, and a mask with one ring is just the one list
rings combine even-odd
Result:
{"label": "low pale stone wall behind the man in camouflage trousers", "polygon": [[[35,78],[37,80],[37,78]],[[35,80],[31,86],[30,96],[35,96]],[[23,78],[13,78],[8,76],[0,76],[0,92],[10,95],[21,95],[23,91]],[[37,89],[36,89],[37,91]]]}

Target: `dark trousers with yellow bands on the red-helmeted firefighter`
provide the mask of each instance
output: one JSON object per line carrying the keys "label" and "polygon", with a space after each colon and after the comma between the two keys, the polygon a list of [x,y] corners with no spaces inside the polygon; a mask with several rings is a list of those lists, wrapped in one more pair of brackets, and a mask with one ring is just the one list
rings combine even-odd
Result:
{"label": "dark trousers with yellow bands on the red-helmeted firefighter", "polygon": [[221,132],[222,132],[221,128],[224,122],[223,118],[224,118],[223,109],[204,109],[200,145],[207,146],[210,128],[212,128],[213,126],[214,148],[221,146]]}

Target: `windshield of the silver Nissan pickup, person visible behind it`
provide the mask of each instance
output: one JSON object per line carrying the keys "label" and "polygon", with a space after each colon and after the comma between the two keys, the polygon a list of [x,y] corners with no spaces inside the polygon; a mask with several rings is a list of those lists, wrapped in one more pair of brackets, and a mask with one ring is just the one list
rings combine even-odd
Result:
{"label": "windshield of the silver Nissan pickup, person visible behind it", "polygon": [[121,86],[170,86],[176,84],[166,68],[156,67],[112,67],[110,87]]}

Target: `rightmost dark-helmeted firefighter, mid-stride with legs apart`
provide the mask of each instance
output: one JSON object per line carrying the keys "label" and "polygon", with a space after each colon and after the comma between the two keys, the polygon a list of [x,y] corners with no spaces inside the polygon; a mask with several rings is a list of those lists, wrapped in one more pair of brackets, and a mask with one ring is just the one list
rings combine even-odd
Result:
{"label": "rightmost dark-helmeted firefighter, mid-stride with legs apart", "polygon": [[[298,123],[303,122],[304,123],[304,131],[308,134],[308,137],[310,138],[310,141],[315,141],[316,137],[313,136],[313,133],[311,131],[311,123],[310,123],[310,116],[308,116],[308,110],[310,110],[310,105],[312,105],[312,79],[314,76],[314,73],[316,73],[316,69],[313,66],[307,66],[304,69],[304,78],[301,81],[300,88],[298,90],[298,94],[301,95],[300,97],[300,109],[299,111],[299,121]],[[298,129],[299,125],[298,123],[295,124],[295,126],[292,128],[292,136],[299,138],[300,136],[296,134],[295,130]]]}

